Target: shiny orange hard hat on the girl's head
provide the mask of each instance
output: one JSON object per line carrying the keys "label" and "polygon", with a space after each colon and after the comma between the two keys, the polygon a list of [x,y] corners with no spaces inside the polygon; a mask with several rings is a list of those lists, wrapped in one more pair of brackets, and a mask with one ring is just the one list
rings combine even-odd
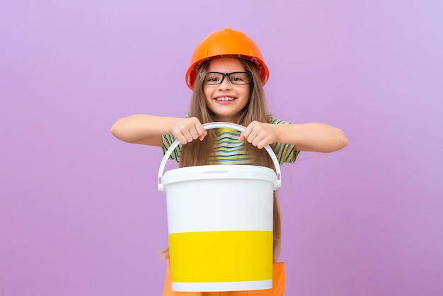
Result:
{"label": "shiny orange hard hat on the girl's head", "polygon": [[215,57],[241,57],[249,59],[257,65],[262,84],[265,85],[269,79],[269,69],[263,57],[255,45],[255,42],[240,31],[224,28],[207,35],[197,47],[191,57],[190,67],[186,72],[186,84],[192,90],[197,76],[197,69],[208,59]]}

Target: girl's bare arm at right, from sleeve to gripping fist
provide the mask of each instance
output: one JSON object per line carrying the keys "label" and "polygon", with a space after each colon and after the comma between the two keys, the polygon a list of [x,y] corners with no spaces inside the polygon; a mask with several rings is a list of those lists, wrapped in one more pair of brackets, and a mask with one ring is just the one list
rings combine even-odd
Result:
{"label": "girl's bare arm at right, from sleeve to gripping fist", "polygon": [[334,152],[347,145],[342,130],[324,123],[274,125],[254,121],[238,140],[248,140],[258,148],[274,142],[294,144],[298,151],[311,152]]}

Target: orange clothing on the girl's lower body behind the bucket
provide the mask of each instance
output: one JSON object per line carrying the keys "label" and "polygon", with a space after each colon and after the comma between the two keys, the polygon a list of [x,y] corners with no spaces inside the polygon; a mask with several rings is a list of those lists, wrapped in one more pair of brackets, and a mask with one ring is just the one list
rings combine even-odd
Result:
{"label": "orange clothing on the girl's lower body behind the bucket", "polygon": [[171,290],[171,271],[168,261],[163,296],[284,296],[285,284],[284,263],[277,262],[272,264],[272,289],[234,292],[176,292]]}

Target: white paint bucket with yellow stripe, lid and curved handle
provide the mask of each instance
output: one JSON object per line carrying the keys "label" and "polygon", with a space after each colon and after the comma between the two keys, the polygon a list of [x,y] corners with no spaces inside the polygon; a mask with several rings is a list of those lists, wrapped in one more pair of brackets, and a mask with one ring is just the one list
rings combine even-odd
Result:
{"label": "white paint bucket with yellow stripe, lid and curved handle", "polygon": [[[209,128],[243,131],[234,123]],[[272,288],[273,191],[281,185],[277,157],[266,146],[275,171],[252,165],[207,165],[163,170],[172,290],[214,292]]]}

